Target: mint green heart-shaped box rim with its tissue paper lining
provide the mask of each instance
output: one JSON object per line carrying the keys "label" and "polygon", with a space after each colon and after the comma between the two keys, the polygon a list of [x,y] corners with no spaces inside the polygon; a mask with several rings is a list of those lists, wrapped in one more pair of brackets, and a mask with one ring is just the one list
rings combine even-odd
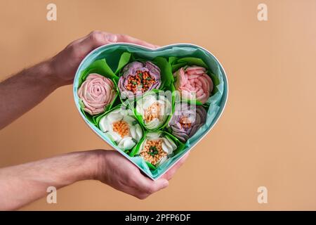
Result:
{"label": "mint green heart-shaped box rim with its tissue paper lining", "polygon": [[[204,63],[211,69],[214,75],[216,75],[219,84],[216,85],[218,91],[216,94],[211,96],[208,100],[208,104],[210,105],[209,110],[207,112],[206,123],[197,131],[197,133],[192,136],[186,143],[185,149],[178,155],[170,158],[168,161],[164,162],[157,169],[150,170],[143,158],[140,157],[130,157],[123,150],[117,148],[117,146],[112,143],[112,141],[105,136],[105,134],[98,129],[95,125],[91,124],[89,120],[84,116],[81,112],[81,106],[79,104],[79,98],[77,95],[77,91],[79,88],[79,77],[81,72],[85,70],[91,63],[96,60],[100,60],[105,58],[107,64],[110,66],[112,71],[116,71],[117,64],[119,62],[119,57],[121,53],[129,51],[130,53],[136,53],[141,58],[145,58],[147,60],[152,60],[157,56],[164,56],[166,58],[170,56],[185,58],[185,57],[196,57],[201,58]],[[74,102],[77,105],[77,109],[81,114],[81,117],[84,119],[86,124],[100,136],[101,139],[106,141],[110,146],[119,151],[124,157],[129,159],[133,164],[135,164],[139,169],[141,169],[147,176],[151,179],[156,180],[159,179],[164,173],[166,173],[178,160],[180,160],[187,151],[192,150],[194,146],[203,139],[206,134],[211,131],[216,122],[219,120],[220,115],[222,115],[223,110],[225,108],[225,104],[228,99],[228,80],[225,74],[225,70],[220,62],[217,60],[215,56],[206,49],[194,45],[194,44],[171,44],[168,46],[162,46],[158,49],[149,49],[144,46],[139,46],[137,44],[127,44],[127,43],[116,43],[116,44],[107,44],[105,46],[100,46],[98,49],[95,49],[89,53],[84,60],[82,60],[79,68],[74,77],[74,86],[73,86],[73,94],[74,94]]]}

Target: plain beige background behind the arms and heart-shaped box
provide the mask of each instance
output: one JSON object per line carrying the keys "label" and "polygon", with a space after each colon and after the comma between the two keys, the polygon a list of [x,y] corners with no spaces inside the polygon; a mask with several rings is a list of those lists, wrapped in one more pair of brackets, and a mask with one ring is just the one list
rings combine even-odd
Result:
{"label": "plain beige background behind the arms and heart-shaped box", "polygon": [[[58,21],[46,20],[46,5]],[[259,3],[268,21],[257,20]],[[204,46],[223,64],[228,105],[171,185],[137,200],[97,181],[23,210],[316,210],[316,1],[0,1],[1,75],[53,56],[91,30]],[[109,148],[81,120],[72,86],[0,131],[0,167]],[[268,204],[257,203],[258,186]]]}

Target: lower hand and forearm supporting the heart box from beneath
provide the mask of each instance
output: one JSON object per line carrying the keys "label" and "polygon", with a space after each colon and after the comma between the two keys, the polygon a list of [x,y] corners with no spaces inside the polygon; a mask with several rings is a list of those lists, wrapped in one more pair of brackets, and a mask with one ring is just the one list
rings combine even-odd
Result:
{"label": "lower hand and forearm supporting the heart box from beneath", "polygon": [[102,181],[119,191],[144,199],[168,186],[187,155],[169,172],[152,181],[129,160],[113,150],[88,150],[58,155],[0,169],[0,210],[15,210],[46,195],[49,186],[62,188],[88,179]]}

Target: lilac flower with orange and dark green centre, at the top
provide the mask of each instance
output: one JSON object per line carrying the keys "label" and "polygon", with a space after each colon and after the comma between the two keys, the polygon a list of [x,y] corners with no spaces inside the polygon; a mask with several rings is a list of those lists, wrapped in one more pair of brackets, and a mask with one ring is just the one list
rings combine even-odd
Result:
{"label": "lilac flower with orange and dark green centre, at the top", "polygon": [[124,67],[118,86],[121,94],[133,98],[141,96],[146,91],[159,89],[161,83],[160,69],[157,65],[150,61],[145,63],[136,61]]}

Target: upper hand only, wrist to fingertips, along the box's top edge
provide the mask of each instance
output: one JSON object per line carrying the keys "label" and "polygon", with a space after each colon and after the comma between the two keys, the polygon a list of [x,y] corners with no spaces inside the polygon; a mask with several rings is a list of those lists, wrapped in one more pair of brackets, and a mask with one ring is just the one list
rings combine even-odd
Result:
{"label": "upper hand only, wrist to fingertips, along the box's top edge", "polygon": [[64,84],[72,84],[74,74],[81,63],[81,60],[91,52],[93,49],[103,46],[105,44],[112,44],[116,42],[126,42],[139,44],[148,48],[157,48],[154,44],[149,44],[134,37],[124,34],[111,34],[102,31],[93,31],[88,36],[82,37],[77,41],[73,41],[64,50],[53,57],[51,61],[53,75],[59,86]]}

